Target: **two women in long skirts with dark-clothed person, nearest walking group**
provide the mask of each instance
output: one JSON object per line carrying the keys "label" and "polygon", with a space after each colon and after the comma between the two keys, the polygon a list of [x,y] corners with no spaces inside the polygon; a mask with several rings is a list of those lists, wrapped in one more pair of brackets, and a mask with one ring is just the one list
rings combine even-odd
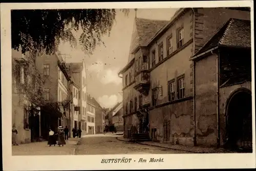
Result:
{"label": "two women in long skirts with dark-clothed person, nearest walking group", "polygon": [[[66,126],[65,129],[63,129],[63,126],[59,126],[58,127],[58,133],[55,134],[54,131],[51,130],[49,131],[49,139],[48,139],[48,145],[52,146],[52,145],[59,145],[59,146],[63,146],[66,144],[66,138],[68,138],[68,133],[69,133],[69,129]],[[56,136],[58,136],[57,138],[57,142],[56,142]],[[65,138],[64,138],[65,136]]]}

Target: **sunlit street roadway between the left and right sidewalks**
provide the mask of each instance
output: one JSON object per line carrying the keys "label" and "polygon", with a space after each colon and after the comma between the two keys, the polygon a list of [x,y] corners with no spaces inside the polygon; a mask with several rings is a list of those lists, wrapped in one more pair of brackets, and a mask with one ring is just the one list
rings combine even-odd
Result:
{"label": "sunlit street roadway between the left and right sidewalks", "polygon": [[78,145],[76,155],[189,153],[175,149],[120,141],[117,139],[119,136],[113,134],[83,136],[79,142],[80,145]]}

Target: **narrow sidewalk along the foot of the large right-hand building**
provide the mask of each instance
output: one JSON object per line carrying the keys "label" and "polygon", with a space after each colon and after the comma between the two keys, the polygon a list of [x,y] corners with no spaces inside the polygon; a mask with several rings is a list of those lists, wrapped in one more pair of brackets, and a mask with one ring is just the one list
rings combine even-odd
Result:
{"label": "narrow sidewalk along the foot of the large right-hand building", "polygon": [[[120,141],[129,141],[130,140],[127,138],[123,138],[123,136],[117,137],[117,139]],[[227,151],[224,148],[200,147],[200,146],[189,147],[189,146],[184,146],[184,145],[172,145],[169,143],[160,143],[160,142],[152,142],[152,141],[136,142],[136,143],[144,144],[144,145],[158,146],[158,147],[169,148],[169,149],[176,149],[176,150],[193,152],[193,153],[235,153],[235,152]]]}

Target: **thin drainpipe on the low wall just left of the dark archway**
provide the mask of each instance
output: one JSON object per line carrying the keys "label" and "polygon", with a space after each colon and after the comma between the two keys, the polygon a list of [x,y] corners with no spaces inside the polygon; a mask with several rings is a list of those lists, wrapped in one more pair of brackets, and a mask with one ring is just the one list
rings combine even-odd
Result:
{"label": "thin drainpipe on the low wall just left of the dark archway", "polygon": [[[214,54],[211,51],[211,54]],[[220,60],[219,60],[220,53],[218,51],[218,55],[216,57],[216,80],[217,80],[217,91],[216,91],[216,98],[217,98],[217,147],[220,146],[220,77],[219,77],[219,72],[220,72]]]}

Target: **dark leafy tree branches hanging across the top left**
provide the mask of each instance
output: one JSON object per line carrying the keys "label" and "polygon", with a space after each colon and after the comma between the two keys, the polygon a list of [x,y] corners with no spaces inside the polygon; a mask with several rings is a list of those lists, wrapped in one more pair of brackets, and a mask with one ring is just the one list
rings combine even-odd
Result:
{"label": "dark leafy tree branches hanging across the top left", "polygon": [[[125,15],[129,9],[121,9]],[[103,44],[102,36],[109,35],[116,17],[115,9],[12,10],[12,48],[52,54],[61,40],[77,46],[73,32],[81,31],[82,50],[92,53]]]}

